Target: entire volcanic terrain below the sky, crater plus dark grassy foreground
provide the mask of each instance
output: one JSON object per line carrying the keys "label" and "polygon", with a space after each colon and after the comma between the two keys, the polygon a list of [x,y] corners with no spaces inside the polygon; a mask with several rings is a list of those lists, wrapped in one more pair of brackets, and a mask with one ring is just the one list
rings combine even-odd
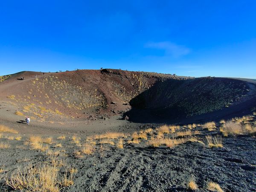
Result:
{"label": "entire volcanic terrain below the sky, crater plus dark grassy foreground", "polygon": [[254,80],[26,71],[0,90],[0,191],[256,191]]}

